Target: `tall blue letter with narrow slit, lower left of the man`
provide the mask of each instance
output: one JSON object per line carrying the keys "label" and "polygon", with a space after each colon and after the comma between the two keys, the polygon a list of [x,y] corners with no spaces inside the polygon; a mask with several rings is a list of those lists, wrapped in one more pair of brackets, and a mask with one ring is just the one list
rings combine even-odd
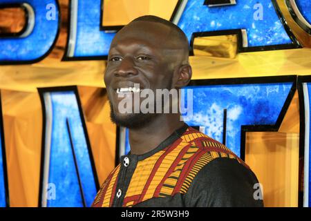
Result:
{"label": "tall blue letter with narrow slit, lower left of the man", "polygon": [[50,96],[53,125],[48,182],[56,186],[56,199],[48,200],[48,206],[83,206],[66,119],[70,125],[86,206],[91,206],[97,191],[77,98],[73,91],[53,92]]}

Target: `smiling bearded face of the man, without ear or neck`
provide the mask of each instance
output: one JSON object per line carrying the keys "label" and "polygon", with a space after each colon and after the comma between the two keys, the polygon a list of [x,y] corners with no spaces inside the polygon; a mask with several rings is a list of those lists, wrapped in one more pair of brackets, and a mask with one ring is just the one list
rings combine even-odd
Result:
{"label": "smiling bearded face of the man, without ear or neck", "polygon": [[123,93],[124,98],[120,97],[120,90],[133,88],[134,84],[139,84],[140,90],[148,88],[154,93],[156,89],[172,88],[173,74],[180,61],[176,57],[178,50],[168,46],[170,32],[169,27],[160,23],[137,21],[120,30],[113,39],[104,81],[111,102],[111,118],[116,124],[133,128],[156,117],[151,113],[120,113],[118,106],[122,99],[134,100],[134,92]]}

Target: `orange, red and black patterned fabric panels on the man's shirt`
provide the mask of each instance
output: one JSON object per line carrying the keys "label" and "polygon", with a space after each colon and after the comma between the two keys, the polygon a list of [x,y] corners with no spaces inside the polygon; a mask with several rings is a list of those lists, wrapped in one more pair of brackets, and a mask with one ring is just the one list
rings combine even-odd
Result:
{"label": "orange, red and black patterned fabric panels on the man's shirt", "polygon": [[[200,169],[218,157],[234,158],[247,166],[220,142],[194,128],[187,128],[187,131],[171,145],[138,162],[123,206],[134,206],[151,198],[187,193]],[[112,206],[119,171],[120,164],[102,185],[93,206]]]}

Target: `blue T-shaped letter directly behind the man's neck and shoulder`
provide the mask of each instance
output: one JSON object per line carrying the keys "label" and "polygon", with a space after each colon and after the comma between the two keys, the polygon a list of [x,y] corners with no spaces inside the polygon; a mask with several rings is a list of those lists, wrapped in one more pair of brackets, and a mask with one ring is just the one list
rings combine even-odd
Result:
{"label": "blue T-shaped letter directly behind the man's neck and shoulder", "polygon": [[[241,153],[242,125],[276,124],[290,83],[189,86],[194,93],[194,114],[185,117],[190,126],[204,126],[205,134],[222,142],[223,111],[227,109],[226,146]],[[187,92],[185,92],[187,93]]]}

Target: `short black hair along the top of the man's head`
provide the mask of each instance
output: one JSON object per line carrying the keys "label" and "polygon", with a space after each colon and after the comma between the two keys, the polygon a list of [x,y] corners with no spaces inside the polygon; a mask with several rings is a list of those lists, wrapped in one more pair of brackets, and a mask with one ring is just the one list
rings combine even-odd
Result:
{"label": "short black hair along the top of the man's head", "polygon": [[187,44],[189,44],[189,40],[187,38],[187,36],[185,35],[185,32],[183,32],[181,30],[181,28],[179,28],[178,26],[176,26],[176,24],[172,23],[171,21],[167,21],[165,19],[162,19],[158,16],[154,16],[154,15],[144,15],[141,17],[138,17],[136,19],[134,19],[132,22],[135,21],[151,21],[151,22],[156,22],[156,23],[162,23],[165,26],[168,26],[169,28],[172,28],[173,30],[175,30],[178,34],[178,36],[183,40],[183,41],[187,41]]}

